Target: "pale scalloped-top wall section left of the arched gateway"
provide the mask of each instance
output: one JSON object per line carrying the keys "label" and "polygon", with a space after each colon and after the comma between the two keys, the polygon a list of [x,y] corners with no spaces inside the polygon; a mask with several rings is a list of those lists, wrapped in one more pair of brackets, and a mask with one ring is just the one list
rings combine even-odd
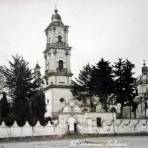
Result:
{"label": "pale scalloped-top wall section left of the arched gateway", "polygon": [[7,127],[4,122],[0,126],[0,138],[10,137],[31,137],[31,136],[62,136],[67,132],[67,127],[61,125],[51,125],[50,122],[46,126],[40,125],[31,127],[28,122],[23,127],[19,127],[15,122],[11,127]]}

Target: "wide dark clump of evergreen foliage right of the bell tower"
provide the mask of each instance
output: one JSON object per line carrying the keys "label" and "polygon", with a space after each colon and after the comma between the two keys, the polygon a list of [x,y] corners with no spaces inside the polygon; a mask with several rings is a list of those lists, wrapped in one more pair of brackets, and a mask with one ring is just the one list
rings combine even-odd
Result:
{"label": "wide dark clump of evergreen foliage right of the bell tower", "polygon": [[132,72],[134,64],[129,60],[119,59],[113,66],[103,58],[94,66],[87,64],[80,71],[78,78],[72,82],[72,93],[78,100],[91,98],[91,105],[94,105],[93,96],[101,98],[104,109],[107,111],[109,96],[116,96],[117,103],[122,107],[132,105],[135,91],[135,78]]}

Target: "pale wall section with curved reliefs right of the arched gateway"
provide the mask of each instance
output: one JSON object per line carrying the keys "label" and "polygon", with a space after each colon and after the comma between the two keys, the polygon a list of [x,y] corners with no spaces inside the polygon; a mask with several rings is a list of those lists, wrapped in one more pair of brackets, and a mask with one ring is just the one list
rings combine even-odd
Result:
{"label": "pale wall section with curved reliefs right of the arched gateway", "polygon": [[102,127],[97,127],[94,123],[92,125],[79,125],[81,134],[139,134],[148,133],[148,120],[138,119],[116,119],[102,121]]}

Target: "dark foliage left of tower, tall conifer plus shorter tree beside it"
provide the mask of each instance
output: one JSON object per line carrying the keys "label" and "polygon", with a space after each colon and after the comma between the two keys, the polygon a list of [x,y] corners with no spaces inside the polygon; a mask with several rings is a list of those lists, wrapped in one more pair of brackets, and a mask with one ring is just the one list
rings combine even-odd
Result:
{"label": "dark foliage left of tower, tall conifer plus shorter tree beside it", "polygon": [[[39,84],[34,79],[34,74],[29,68],[29,63],[22,56],[12,56],[9,67],[4,67],[6,86],[9,89],[13,113],[20,121],[29,120],[32,114],[40,116],[45,113],[45,99],[40,93]],[[31,104],[31,105],[30,105]],[[32,106],[32,104],[36,104]],[[32,109],[32,107],[34,107]]]}

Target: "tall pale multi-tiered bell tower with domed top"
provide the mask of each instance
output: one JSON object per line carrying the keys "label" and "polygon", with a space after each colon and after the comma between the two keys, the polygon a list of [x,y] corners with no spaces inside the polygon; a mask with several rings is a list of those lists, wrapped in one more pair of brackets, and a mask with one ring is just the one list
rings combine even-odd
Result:
{"label": "tall pale multi-tiered bell tower with domed top", "polygon": [[45,97],[47,104],[46,116],[57,117],[62,110],[60,100],[67,102],[71,93],[71,47],[68,45],[68,28],[62,22],[58,10],[54,10],[51,23],[45,30]]}

